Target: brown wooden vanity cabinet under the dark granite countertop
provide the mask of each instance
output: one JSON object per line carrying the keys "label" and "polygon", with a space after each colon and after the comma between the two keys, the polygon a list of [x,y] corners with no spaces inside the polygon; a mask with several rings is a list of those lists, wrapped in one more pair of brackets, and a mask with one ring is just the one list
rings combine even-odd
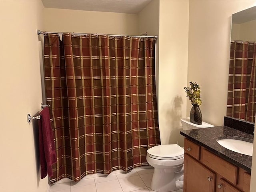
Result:
{"label": "brown wooden vanity cabinet under the dark granite countertop", "polygon": [[249,192],[250,174],[184,140],[184,192]]}

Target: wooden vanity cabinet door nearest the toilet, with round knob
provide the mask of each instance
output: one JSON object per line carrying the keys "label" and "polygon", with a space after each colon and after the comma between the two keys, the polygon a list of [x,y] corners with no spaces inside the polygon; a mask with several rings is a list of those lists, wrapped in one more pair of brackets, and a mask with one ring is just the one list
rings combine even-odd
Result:
{"label": "wooden vanity cabinet door nearest the toilet, with round knob", "polygon": [[216,175],[184,154],[184,192],[214,192]]}

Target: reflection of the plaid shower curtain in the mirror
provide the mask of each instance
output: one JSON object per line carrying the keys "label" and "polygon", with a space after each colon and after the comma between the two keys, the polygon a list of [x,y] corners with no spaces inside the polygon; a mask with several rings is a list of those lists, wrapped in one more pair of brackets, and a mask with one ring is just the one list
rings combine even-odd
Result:
{"label": "reflection of the plaid shower curtain in the mirror", "polygon": [[231,41],[227,116],[255,122],[256,42]]}

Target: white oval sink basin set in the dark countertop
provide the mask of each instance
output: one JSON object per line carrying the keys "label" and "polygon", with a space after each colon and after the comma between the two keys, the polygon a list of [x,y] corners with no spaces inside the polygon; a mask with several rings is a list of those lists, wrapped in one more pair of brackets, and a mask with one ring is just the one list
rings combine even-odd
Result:
{"label": "white oval sink basin set in the dark countertop", "polygon": [[237,136],[223,136],[219,137],[217,142],[231,151],[252,156],[253,140]]}

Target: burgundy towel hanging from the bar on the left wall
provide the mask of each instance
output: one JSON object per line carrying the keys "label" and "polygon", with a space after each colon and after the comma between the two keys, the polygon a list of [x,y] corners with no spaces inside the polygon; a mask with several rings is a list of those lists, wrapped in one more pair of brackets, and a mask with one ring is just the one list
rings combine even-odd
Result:
{"label": "burgundy towel hanging from the bar on the left wall", "polygon": [[56,151],[52,136],[49,108],[45,107],[40,112],[39,119],[39,152],[41,164],[41,178],[53,176],[52,164],[57,162]]}

